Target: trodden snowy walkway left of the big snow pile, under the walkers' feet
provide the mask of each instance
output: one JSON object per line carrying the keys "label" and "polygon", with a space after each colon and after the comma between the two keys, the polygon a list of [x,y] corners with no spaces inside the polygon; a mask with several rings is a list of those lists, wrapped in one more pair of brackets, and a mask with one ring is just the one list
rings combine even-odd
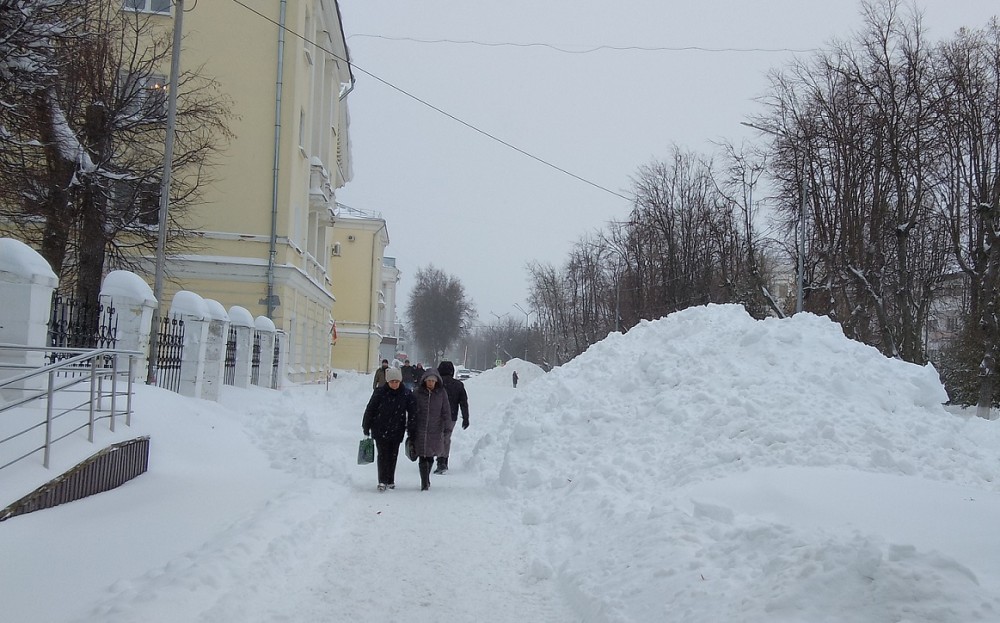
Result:
{"label": "trodden snowy walkway left of the big snow pile, under the walkers' feet", "polygon": [[[225,410],[193,414],[221,433],[216,445],[198,447],[183,433],[166,439],[189,426],[175,420],[154,431],[158,460],[148,475],[3,526],[11,537],[50,522],[73,526],[52,541],[73,552],[72,571],[52,578],[72,583],[73,597],[40,609],[38,595],[27,597],[60,569],[60,555],[40,553],[35,577],[18,580],[26,598],[13,611],[44,612],[53,623],[577,620],[555,582],[531,573],[520,516],[463,466],[480,436],[474,428],[456,431],[452,470],[432,475],[430,491],[419,491],[417,466],[405,457],[397,488],[375,490],[375,466],[355,460],[369,387],[231,391]],[[185,400],[166,398],[174,413]],[[474,427],[492,398],[475,399]],[[233,449],[217,445],[234,436],[243,439]],[[168,444],[183,446],[185,458],[168,463]],[[35,549],[22,543],[15,555]],[[88,573],[88,560],[102,567]]]}

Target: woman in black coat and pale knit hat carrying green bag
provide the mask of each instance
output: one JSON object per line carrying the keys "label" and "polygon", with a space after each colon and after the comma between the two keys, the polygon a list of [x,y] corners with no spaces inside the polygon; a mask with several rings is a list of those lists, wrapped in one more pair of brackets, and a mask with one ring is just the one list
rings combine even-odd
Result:
{"label": "woman in black coat and pale knit hat carrying green bag", "polygon": [[399,444],[416,407],[413,393],[403,386],[403,375],[398,369],[388,368],[385,377],[385,385],[372,392],[361,420],[362,432],[375,439],[379,492],[396,488]]}

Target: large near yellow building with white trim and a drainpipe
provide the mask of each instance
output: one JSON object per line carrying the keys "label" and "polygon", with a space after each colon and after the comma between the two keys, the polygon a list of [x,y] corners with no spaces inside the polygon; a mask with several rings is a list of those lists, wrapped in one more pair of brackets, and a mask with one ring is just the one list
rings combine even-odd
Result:
{"label": "large near yellow building with white trim and a drainpipe", "polygon": [[[165,20],[172,10],[165,0],[124,4]],[[336,0],[250,6],[186,4],[181,66],[204,66],[233,99],[236,138],[185,223],[198,232],[198,250],[166,259],[164,311],[184,289],[268,316],[286,334],[289,378],[307,381],[330,361],[328,230],[335,189],[351,178],[346,98],[354,78]],[[338,291],[368,304],[373,289]]]}

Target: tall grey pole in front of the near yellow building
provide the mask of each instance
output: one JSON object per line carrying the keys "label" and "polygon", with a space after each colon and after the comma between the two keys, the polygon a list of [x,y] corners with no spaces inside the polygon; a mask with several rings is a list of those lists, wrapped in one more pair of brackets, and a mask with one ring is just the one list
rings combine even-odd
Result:
{"label": "tall grey pole in front of the near yellow building", "polygon": [[170,49],[170,81],[167,87],[167,128],[163,144],[163,175],[160,178],[160,212],[159,229],[156,236],[156,266],[153,272],[153,298],[156,307],[153,308],[151,330],[149,332],[149,364],[146,373],[146,383],[157,382],[159,367],[158,350],[160,347],[160,315],[163,308],[163,271],[166,263],[165,249],[167,242],[167,213],[170,206],[170,174],[174,161],[174,134],[177,129],[177,85],[181,67],[181,35],[184,22],[184,0],[174,0],[174,32],[173,47]]}

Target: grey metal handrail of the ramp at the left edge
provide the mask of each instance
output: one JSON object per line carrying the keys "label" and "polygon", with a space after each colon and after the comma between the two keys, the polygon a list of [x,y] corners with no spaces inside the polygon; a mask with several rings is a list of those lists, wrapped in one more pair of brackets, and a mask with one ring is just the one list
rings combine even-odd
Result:
{"label": "grey metal handrail of the ramp at the left edge", "polygon": [[[48,468],[56,442],[86,429],[93,443],[101,422],[112,432],[119,420],[131,425],[132,379],[142,353],[0,344],[0,352],[18,351],[41,351],[44,359],[55,351],[58,360],[41,367],[0,363],[0,370],[13,373],[0,380],[0,470],[39,452]],[[39,403],[43,409],[18,409]]]}

